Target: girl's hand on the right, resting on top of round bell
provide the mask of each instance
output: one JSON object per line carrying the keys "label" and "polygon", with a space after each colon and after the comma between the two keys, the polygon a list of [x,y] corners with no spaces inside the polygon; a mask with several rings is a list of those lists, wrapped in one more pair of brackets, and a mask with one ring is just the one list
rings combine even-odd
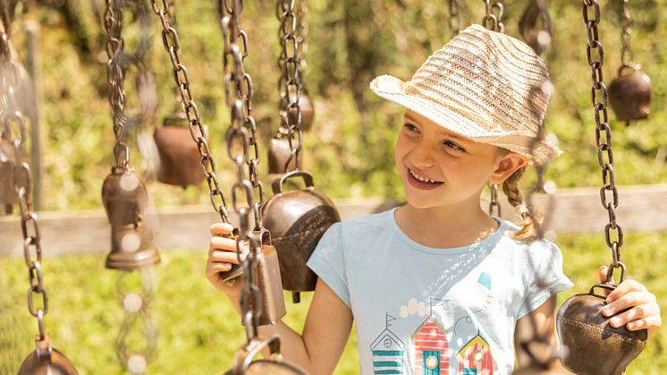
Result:
{"label": "girl's hand on the right, resting on top of round bell", "polygon": [[[600,281],[607,278],[607,267],[598,269]],[[646,290],[646,286],[636,280],[626,279],[613,292],[607,295],[607,305],[602,310],[605,317],[611,317],[618,311],[625,312],[609,320],[613,328],[623,325],[631,331],[648,329],[653,334],[663,324],[655,295]]]}

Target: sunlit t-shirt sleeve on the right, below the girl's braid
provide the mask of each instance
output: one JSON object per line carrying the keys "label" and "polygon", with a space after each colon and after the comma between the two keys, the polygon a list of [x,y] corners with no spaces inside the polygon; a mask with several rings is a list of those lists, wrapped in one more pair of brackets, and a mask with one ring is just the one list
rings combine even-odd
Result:
{"label": "sunlit t-shirt sleeve on the right, below the girl's braid", "polygon": [[554,243],[536,241],[528,249],[528,269],[531,275],[528,293],[519,309],[517,319],[540,307],[553,295],[573,286],[562,272],[561,250]]}

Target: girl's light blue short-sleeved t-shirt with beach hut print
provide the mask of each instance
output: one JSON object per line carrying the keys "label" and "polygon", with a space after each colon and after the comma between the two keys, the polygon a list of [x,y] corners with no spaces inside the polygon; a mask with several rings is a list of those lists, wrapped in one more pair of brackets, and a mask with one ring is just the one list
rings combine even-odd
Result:
{"label": "girl's light blue short-sleeved t-shirt with beach hut print", "polygon": [[479,243],[411,240],[395,209],[331,226],[308,260],[350,306],[362,374],[510,374],[519,318],[572,283],[561,251],[500,221]]}

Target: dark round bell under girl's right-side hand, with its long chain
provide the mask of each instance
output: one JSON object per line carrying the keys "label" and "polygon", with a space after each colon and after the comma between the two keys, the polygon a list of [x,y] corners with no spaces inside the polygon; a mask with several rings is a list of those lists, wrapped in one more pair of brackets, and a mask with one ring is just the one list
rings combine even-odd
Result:
{"label": "dark round bell under girl's right-side hand, with its long chain", "polygon": [[575,294],[562,304],[558,311],[557,329],[561,344],[569,350],[569,355],[562,360],[567,369],[582,375],[620,375],[644,349],[648,333],[646,329],[630,331],[625,327],[612,328],[609,324],[612,317],[606,318],[601,312],[605,297],[595,293],[595,288],[614,290],[618,286],[613,279],[614,269],[621,269],[622,283],[626,268],[621,262],[623,231],[616,222],[619,194],[614,183],[612,130],[607,123],[608,94],[602,75],[604,54],[598,38],[600,5],[597,0],[583,0],[583,15],[587,27],[588,64],[593,79],[591,91],[595,110],[597,158],[603,175],[600,196],[604,209],[609,213],[609,223],[604,227],[604,236],[612,251],[612,264],[604,283],[595,284],[587,294]]}

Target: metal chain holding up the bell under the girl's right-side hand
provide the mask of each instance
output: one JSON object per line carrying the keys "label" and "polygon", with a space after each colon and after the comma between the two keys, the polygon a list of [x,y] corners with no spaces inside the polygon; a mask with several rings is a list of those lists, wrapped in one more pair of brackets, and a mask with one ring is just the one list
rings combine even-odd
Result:
{"label": "metal chain holding up the bell under the girl's right-side hand", "polygon": [[[621,268],[621,246],[623,230],[616,222],[616,209],[619,206],[619,192],[613,171],[612,129],[607,114],[607,88],[603,81],[604,49],[599,40],[598,24],[600,23],[600,4],[597,0],[583,0],[584,24],[587,29],[586,56],[591,67],[591,102],[595,111],[595,144],[597,145],[597,161],[602,169],[603,185],[600,188],[600,200],[609,214],[609,223],[604,226],[604,239],[612,250],[613,268]],[[591,9],[593,18],[590,18]],[[611,275],[611,273],[610,273]]]}

